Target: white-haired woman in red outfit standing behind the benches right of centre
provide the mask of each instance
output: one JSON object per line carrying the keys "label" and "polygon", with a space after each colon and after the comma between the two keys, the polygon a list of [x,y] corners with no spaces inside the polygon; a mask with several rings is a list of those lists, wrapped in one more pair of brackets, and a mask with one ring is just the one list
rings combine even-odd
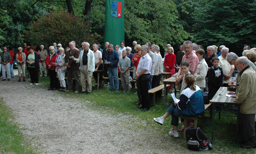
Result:
{"label": "white-haired woman in red outfit standing behind the benches right of centre", "polygon": [[[164,66],[165,66],[165,72],[171,72],[171,74],[168,75],[168,78],[170,78],[172,75],[175,74],[175,67],[174,64],[176,62],[176,56],[173,54],[173,48],[169,47],[167,49],[168,55],[164,58]],[[171,86],[169,87],[171,89]]]}

